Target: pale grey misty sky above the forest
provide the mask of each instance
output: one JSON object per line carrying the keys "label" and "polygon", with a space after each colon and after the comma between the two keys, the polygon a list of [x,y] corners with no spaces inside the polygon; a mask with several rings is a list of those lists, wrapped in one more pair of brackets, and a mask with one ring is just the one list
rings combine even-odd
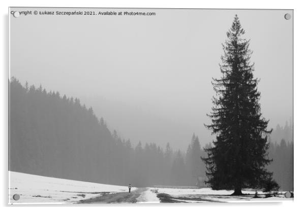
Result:
{"label": "pale grey misty sky above the forest", "polygon": [[210,122],[211,78],[221,76],[221,44],[237,14],[251,39],[269,128],[292,117],[293,20],[284,18],[292,11],[81,10],[156,16],[11,16],[10,75],[80,98],[134,144],[169,142],[186,150],[194,132],[202,145],[212,140],[203,126]]}

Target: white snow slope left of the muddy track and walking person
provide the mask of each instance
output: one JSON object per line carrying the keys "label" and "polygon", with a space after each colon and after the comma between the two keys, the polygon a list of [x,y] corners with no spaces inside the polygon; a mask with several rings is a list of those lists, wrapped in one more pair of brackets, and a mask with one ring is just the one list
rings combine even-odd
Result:
{"label": "white snow slope left of the muddy track and walking person", "polygon": [[[128,188],[124,186],[49,178],[13,171],[9,173],[10,204],[76,203],[103,194],[128,191]],[[14,194],[19,194],[20,199],[14,200]]]}

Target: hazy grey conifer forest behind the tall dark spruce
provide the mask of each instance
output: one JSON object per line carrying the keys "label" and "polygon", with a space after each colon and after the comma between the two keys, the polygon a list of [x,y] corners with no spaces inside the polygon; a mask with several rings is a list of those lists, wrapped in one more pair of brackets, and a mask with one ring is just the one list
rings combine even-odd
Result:
{"label": "hazy grey conifer forest behind the tall dark spruce", "polygon": [[[282,175],[290,172],[282,156],[291,148],[271,146],[270,170],[282,186]],[[103,184],[195,186],[206,170],[200,157],[207,154],[195,134],[186,152],[169,144],[165,149],[154,143],[133,146],[78,98],[23,86],[15,78],[10,81],[9,148],[9,170]]]}

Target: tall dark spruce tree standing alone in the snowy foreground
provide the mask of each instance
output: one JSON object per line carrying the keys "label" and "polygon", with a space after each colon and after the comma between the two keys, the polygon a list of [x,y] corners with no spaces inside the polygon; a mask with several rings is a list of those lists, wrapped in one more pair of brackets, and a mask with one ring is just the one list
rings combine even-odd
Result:
{"label": "tall dark spruce tree standing alone in the snowy foreground", "polygon": [[207,165],[208,183],[212,189],[234,190],[241,195],[243,188],[260,188],[271,177],[265,165],[267,158],[268,121],[260,111],[258,79],[254,78],[254,63],[249,40],[242,38],[244,30],[237,15],[226,33],[224,55],[220,65],[222,77],[213,79],[212,112],[205,125],[216,135],[214,146],[202,158]]}

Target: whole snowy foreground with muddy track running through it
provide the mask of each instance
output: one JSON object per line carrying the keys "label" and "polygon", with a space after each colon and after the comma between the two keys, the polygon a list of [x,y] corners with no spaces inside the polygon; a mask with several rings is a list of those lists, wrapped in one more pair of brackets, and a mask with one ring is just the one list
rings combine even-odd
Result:
{"label": "whole snowy foreground with muddy track running through it", "polygon": [[[253,198],[254,191],[243,191],[243,196],[230,196],[232,191],[213,191],[210,188],[191,189],[175,187],[128,187],[88,183],[74,180],[42,177],[10,171],[9,203],[189,203],[292,200],[279,197]],[[14,200],[14,194],[20,198]],[[264,197],[258,192],[259,197]]]}

